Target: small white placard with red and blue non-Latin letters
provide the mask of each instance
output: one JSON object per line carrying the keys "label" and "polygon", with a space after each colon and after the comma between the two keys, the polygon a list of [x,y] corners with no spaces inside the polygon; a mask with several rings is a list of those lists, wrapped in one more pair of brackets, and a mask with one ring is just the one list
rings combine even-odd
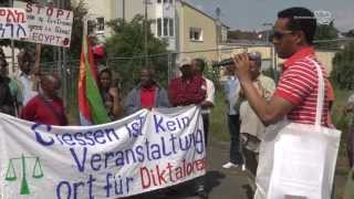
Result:
{"label": "small white placard with red and blue non-Latin letters", "polygon": [[0,39],[22,40],[28,34],[24,9],[0,8]]}

